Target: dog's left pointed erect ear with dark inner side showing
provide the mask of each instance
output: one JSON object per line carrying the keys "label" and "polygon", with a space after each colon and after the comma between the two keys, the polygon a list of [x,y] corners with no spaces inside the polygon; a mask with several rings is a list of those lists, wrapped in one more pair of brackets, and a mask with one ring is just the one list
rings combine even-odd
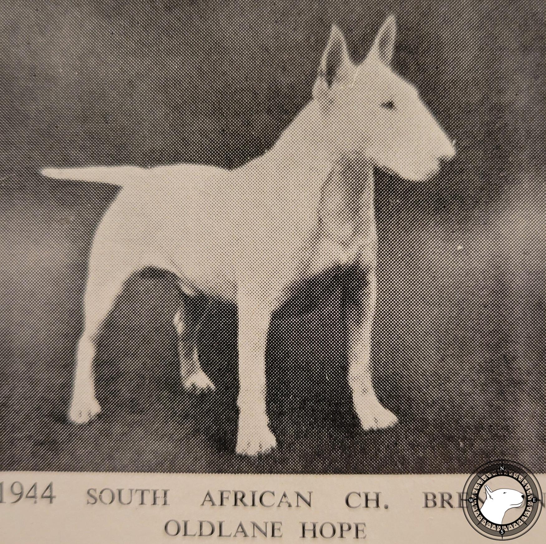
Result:
{"label": "dog's left pointed erect ear with dark inner side showing", "polygon": [[322,54],[321,67],[313,89],[313,96],[318,98],[335,85],[350,85],[353,74],[354,66],[349,59],[347,42],[341,30],[334,25]]}

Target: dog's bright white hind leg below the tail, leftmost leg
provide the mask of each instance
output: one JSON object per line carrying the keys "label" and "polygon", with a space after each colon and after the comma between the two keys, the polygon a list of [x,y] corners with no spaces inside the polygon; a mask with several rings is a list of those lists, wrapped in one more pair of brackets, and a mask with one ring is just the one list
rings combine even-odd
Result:
{"label": "dog's bright white hind leg below the tail, leftmost leg", "polygon": [[94,342],[100,324],[110,312],[117,295],[134,267],[119,265],[119,262],[93,262],[90,260],[87,286],[84,297],[84,332],[78,344],[72,400],[69,417],[74,423],[87,423],[100,412],[95,396],[93,358]]}

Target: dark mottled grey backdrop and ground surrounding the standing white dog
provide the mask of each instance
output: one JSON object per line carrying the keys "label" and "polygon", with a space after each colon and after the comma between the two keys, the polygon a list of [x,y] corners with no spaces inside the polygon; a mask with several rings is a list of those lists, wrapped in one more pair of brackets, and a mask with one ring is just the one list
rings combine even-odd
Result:
{"label": "dark mottled grey backdrop and ground surrounding the standing white dog", "polygon": [[[216,393],[185,394],[174,287],[153,274],[129,283],[100,339],[103,414],[69,424],[87,254],[117,189],[40,169],[241,165],[310,98],[331,24],[360,61],[389,13],[394,68],[459,151],[426,183],[377,172],[373,376],[400,424],[355,422],[347,274],[271,326],[274,453],[233,453],[236,309],[218,301],[200,341]],[[545,52],[539,0],[2,3],[0,469],[470,472],[509,458],[546,471]]]}

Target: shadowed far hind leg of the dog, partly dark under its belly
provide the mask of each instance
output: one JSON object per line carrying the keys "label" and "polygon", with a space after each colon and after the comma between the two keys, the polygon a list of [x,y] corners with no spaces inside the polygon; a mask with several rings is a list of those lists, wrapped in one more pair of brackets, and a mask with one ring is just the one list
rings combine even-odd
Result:
{"label": "shadowed far hind leg of the dog, partly dark under its belly", "polygon": [[[197,336],[209,304],[203,297],[194,297],[182,285],[180,306],[175,313],[173,324],[178,335],[180,376],[182,386],[188,391],[213,391],[214,384],[201,368],[197,352]],[[195,300],[199,299],[199,300]],[[197,306],[190,308],[192,305]]]}

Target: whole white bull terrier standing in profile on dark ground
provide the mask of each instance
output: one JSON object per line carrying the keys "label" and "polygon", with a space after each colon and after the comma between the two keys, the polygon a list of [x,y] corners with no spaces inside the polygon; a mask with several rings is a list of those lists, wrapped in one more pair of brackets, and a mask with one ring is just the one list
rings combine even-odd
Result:
{"label": "whole white bull terrier standing in profile on dark ground", "polygon": [[120,185],[98,226],[85,292],[85,327],[70,418],[100,411],[93,384],[93,340],[126,279],[145,267],[176,274],[182,381],[211,390],[192,345],[195,323],[184,306],[195,294],[220,296],[239,309],[239,429],[236,452],[276,445],[265,395],[265,347],[272,312],[299,280],[333,266],[358,265],[367,285],[351,315],[348,379],[364,429],[396,416],[378,401],[370,373],[376,307],[373,168],[410,180],[437,172],[453,145],[417,90],[390,68],[396,23],[388,17],[366,59],[355,65],[334,26],[312,100],[263,156],[225,170],[200,165],[45,169],[52,178]]}

